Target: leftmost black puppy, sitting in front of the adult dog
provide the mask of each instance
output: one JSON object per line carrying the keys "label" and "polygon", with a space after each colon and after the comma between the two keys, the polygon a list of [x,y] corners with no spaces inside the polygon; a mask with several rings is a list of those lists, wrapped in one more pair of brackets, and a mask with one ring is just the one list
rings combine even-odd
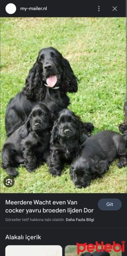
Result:
{"label": "leftmost black puppy, sitting in front of the adult dog", "polygon": [[53,126],[52,115],[43,104],[37,104],[22,125],[6,140],[2,150],[2,166],[11,176],[17,176],[15,167],[24,164],[33,172],[42,161],[49,159],[49,142]]}

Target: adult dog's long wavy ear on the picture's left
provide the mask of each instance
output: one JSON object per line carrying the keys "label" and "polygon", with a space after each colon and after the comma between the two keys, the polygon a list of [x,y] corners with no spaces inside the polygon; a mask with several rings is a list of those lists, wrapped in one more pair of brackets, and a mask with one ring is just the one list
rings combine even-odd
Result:
{"label": "adult dog's long wavy ear on the picture's left", "polygon": [[41,86],[41,72],[39,70],[38,62],[34,63],[34,66],[29,71],[29,74],[25,80],[25,87],[23,93],[27,99],[41,100],[45,96],[45,88]]}

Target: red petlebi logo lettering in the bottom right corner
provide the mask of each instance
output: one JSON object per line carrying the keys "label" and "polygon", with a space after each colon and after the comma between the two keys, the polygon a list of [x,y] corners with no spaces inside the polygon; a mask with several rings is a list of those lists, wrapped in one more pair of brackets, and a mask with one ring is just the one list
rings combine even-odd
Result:
{"label": "red petlebi logo lettering in the bottom right corner", "polygon": [[[101,241],[99,243],[98,241],[95,242],[95,244],[79,244],[76,243],[77,245],[77,254],[85,252],[87,250],[90,253],[93,253],[94,250],[97,252],[111,252],[111,250],[114,250],[114,252],[120,252],[122,251],[123,253],[125,252],[125,241],[121,241],[121,244],[116,243],[116,241],[113,241],[113,244],[104,244],[104,241]],[[83,247],[83,248],[82,248]]]}

